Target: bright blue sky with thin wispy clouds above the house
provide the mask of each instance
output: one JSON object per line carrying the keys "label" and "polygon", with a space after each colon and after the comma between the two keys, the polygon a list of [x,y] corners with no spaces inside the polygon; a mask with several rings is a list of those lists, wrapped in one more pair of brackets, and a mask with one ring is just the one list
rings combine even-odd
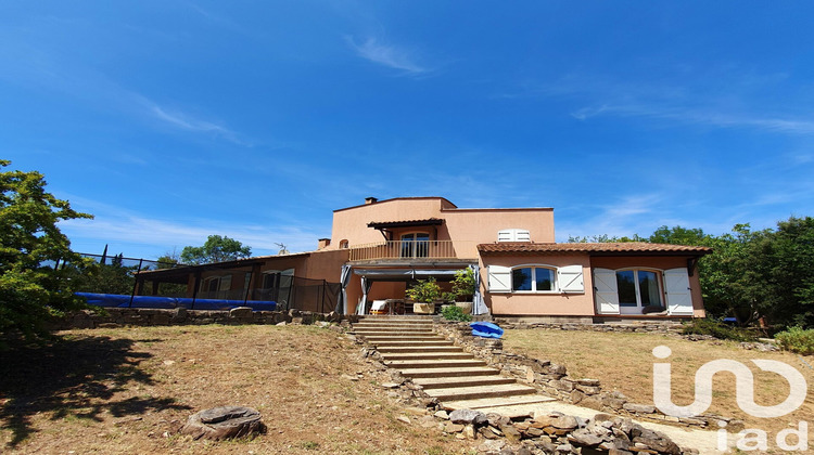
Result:
{"label": "bright blue sky with thin wispy clouds above the house", "polygon": [[4,1],[0,157],[75,250],[274,253],[367,196],[554,207],[558,240],[814,205],[814,5]]}

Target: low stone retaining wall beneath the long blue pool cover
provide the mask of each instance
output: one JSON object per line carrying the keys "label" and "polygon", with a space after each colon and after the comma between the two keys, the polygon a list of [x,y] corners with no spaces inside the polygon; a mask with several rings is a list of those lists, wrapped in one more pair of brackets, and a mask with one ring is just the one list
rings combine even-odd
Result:
{"label": "low stone retaining wall beneath the long blue pool cover", "polygon": [[356,315],[314,313],[310,311],[252,311],[247,307],[231,310],[173,310],[145,308],[105,308],[82,310],[52,322],[54,329],[120,327],[126,325],[204,325],[204,324],[314,324],[319,321],[356,322]]}

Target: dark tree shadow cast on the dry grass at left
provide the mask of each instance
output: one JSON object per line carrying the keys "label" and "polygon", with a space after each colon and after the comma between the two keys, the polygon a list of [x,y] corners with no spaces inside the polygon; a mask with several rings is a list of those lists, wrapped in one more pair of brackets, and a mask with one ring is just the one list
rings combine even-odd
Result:
{"label": "dark tree shadow cast on the dry grass at left", "polygon": [[[52,420],[75,417],[101,421],[109,412],[115,417],[141,415],[166,408],[189,410],[171,398],[113,396],[153,379],[140,364],[152,355],[135,352],[136,340],[110,337],[61,337],[46,346],[0,351],[0,428],[12,431],[15,446],[37,431],[31,416],[51,415]],[[1,451],[1,447],[0,447]]]}

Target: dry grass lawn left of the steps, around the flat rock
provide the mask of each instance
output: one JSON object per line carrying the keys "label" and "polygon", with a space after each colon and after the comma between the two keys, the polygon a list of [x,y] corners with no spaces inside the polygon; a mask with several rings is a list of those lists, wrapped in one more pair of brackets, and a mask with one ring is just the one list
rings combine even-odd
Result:
{"label": "dry grass lawn left of the steps, around the flat rock", "polygon": [[[311,326],[136,327],[60,333],[0,352],[0,453],[442,454],[470,443],[408,426],[359,349]],[[352,381],[342,375],[364,378]],[[176,434],[198,411],[257,408],[266,434]]]}

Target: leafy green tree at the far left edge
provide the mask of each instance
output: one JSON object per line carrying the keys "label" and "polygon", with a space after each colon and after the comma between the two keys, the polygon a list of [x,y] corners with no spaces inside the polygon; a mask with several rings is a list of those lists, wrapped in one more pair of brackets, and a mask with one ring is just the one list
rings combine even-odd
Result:
{"label": "leafy green tree at the far left edge", "polygon": [[[0,160],[0,168],[11,161]],[[71,242],[56,227],[62,220],[92,218],[46,192],[41,173],[0,172],[0,334],[20,330],[27,339],[47,334],[51,315],[84,308],[64,280],[68,268],[86,261],[71,251]]]}

